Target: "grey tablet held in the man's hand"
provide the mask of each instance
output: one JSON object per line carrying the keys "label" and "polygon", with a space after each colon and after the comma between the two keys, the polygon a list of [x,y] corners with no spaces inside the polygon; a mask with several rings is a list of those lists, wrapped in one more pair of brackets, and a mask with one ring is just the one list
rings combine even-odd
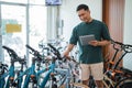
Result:
{"label": "grey tablet held in the man's hand", "polygon": [[88,43],[90,41],[95,41],[95,35],[82,35],[82,36],[79,36],[79,40],[80,40],[80,43],[81,45],[88,45]]}

